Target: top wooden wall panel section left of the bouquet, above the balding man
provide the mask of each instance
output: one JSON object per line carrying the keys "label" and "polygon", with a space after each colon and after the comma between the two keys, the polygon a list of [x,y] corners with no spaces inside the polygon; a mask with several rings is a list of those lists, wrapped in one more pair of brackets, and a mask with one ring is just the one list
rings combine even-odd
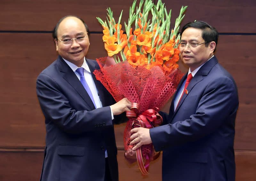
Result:
{"label": "top wooden wall panel section left of the bouquet, above the balding man", "polygon": [[0,30],[52,31],[60,18],[76,15],[84,19],[90,31],[102,31],[96,17],[105,20],[106,9],[111,6],[115,20],[118,20],[123,9],[123,20],[127,22],[132,2],[133,0],[1,0]]}

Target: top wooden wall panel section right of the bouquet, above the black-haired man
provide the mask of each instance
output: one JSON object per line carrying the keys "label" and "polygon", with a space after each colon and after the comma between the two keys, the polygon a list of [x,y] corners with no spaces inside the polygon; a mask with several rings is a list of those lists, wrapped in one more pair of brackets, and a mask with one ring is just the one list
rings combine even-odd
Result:
{"label": "top wooden wall panel section right of the bouquet, above the black-haired man", "polygon": [[[188,9],[180,27],[187,22],[202,20],[208,22],[221,33],[255,33],[256,20],[251,16],[255,14],[256,4],[253,0],[162,0],[167,9],[172,9],[172,25],[180,12],[181,6],[188,5]],[[251,19],[251,20],[249,20]]]}

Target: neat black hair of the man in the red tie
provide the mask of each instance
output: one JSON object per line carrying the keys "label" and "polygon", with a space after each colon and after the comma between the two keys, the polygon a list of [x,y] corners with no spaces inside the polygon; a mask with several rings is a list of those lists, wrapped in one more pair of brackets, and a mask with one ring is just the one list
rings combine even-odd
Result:
{"label": "neat black hair of the man in the red tie", "polygon": [[181,35],[187,28],[198,28],[198,29],[203,30],[202,38],[204,39],[205,42],[207,42],[207,43],[205,43],[205,46],[207,47],[210,42],[215,42],[216,46],[213,51],[213,52],[215,52],[217,43],[218,43],[219,33],[214,27],[210,26],[208,23],[206,23],[204,21],[189,22],[182,27]]}

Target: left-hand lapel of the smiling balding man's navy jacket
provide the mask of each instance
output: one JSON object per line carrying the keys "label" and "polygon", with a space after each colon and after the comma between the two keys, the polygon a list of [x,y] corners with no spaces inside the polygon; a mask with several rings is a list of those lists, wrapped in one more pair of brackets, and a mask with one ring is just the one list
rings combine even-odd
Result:
{"label": "left-hand lapel of the smiling balding man's navy jacket", "polygon": [[68,64],[59,56],[57,66],[59,67],[60,72],[63,72],[63,78],[76,90],[76,92],[84,99],[86,104],[93,110],[95,106],[84,89],[84,86],[77,78],[73,70],[68,66]]}

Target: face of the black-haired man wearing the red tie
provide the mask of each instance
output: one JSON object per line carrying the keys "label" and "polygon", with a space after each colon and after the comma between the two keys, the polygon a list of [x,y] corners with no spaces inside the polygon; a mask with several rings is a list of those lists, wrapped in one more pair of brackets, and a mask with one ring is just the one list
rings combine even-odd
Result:
{"label": "face of the black-haired man wearing the red tie", "polygon": [[[187,45],[190,43],[204,43],[205,41],[202,38],[202,30],[191,27],[185,29],[182,33],[180,42]],[[195,48],[186,46],[184,50],[180,51],[181,60],[190,67],[191,72],[212,57],[213,50],[215,48],[215,45],[213,47],[212,44],[215,43],[210,43],[207,47],[205,47],[205,44],[198,45]]]}

